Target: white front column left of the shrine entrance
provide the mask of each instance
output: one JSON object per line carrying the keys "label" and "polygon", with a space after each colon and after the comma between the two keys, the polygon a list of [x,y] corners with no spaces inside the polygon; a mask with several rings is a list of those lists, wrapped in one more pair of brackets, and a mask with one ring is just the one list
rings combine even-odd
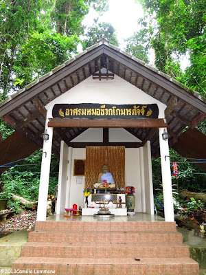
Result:
{"label": "white front column left of the shrine entrance", "polygon": [[38,209],[36,221],[45,221],[47,216],[47,196],[49,188],[49,173],[50,173],[50,163],[52,155],[52,137],[53,128],[47,126],[48,120],[45,123],[45,130],[49,134],[49,140],[44,141],[43,144],[43,155],[41,160],[41,175],[40,184],[38,190]]}

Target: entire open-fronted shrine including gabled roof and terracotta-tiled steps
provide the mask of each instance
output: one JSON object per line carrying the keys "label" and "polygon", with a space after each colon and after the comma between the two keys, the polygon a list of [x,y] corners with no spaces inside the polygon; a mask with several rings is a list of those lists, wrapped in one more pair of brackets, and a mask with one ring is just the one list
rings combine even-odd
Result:
{"label": "entire open-fronted shrine including gabled roof and terracotta-tiled steps", "polygon": [[[4,146],[11,158],[0,164],[43,148],[35,231],[12,268],[61,275],[198,274],[176,232],[169,148],[183,150],[190,140],[190,151],[201,154],[192,137],[205,115],[198,93],[106,39],[1,102],[1,119],[16,131]],[[48,218],[52,153],[60,164],[56,214]],[[151,159],[159,156],[164,219],[154,213]],[[108,172],[113,179],[100,184]],[[133,216],[126,208],[128,186],[135,189]],[[68,214],[74,205],[82,216]],[[95,217],[104,210],[113,215],[110,222]]]}

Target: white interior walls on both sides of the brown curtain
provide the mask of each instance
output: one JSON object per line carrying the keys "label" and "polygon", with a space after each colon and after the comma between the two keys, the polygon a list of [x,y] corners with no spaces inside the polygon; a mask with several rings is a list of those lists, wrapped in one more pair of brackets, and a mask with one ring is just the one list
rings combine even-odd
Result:
{"label": "white interior walls on both sides of the brown curtain", "polygon": [[[86,159],[86,148],[73,148],[71,152],[71,173],[69,173],[69,165],[67,164],[69,150],[65,142],[62,143],[64,146],[62,146],[60,155],[58,183],[60,200],[58,199],[57,213],[64,212],[65,207],[71,208],[74,203],[78,207],[84,206],[85,178],[82,177],[82,184],[76,183],[76,176],[73,176],[73,163],[74,159]],[[125,149],[125,182],[126,186],[135,187],[135,212],[154,214],[150,142],[147,142],[141,148]]]}

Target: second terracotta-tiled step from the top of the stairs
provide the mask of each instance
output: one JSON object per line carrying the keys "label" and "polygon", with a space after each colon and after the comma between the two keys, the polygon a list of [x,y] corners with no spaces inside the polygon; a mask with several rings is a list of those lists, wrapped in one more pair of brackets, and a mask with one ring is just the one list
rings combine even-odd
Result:
{"label": "second terracotta-tiled step from the top of the stairs", "polygon": [[29,234],[32,242],[54,243],[182,243],[182,235],[178,232],[145,232],[145,231],[34,231]]}

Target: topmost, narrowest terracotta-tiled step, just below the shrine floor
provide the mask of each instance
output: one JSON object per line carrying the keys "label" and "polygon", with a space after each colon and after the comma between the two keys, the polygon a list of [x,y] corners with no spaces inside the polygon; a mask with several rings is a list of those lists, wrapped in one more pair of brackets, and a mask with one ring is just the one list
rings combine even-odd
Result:
{"label": "topmost, narrowest terracotta-tiled step, just below the shrine floor", "polygon": [[36,221],[35,230],[58,231],[176,231],[175,222],[165,221]]}

